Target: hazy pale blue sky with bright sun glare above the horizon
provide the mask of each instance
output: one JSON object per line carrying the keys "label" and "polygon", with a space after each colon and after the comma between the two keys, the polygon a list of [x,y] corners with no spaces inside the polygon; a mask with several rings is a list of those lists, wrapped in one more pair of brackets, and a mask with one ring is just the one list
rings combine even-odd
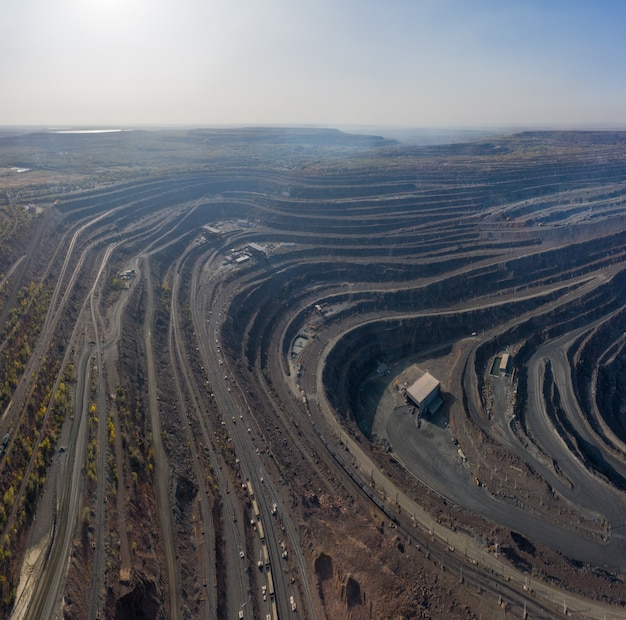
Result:
{"label": "hazy pale blue sky with bright sun glare above the horizon", "polygon": [[2,0],[0,125],[626,127],[624,0]]}

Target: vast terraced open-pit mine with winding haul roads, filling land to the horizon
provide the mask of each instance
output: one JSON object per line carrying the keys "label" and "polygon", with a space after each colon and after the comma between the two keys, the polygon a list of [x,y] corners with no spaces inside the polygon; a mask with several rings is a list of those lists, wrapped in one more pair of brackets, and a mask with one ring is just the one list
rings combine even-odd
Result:
{"label": "vast terraced open-pit mine with winding haul roads, filling land to the horizon", "polygon": [[0,617],[626,617],[626,133],[0,135]]}

